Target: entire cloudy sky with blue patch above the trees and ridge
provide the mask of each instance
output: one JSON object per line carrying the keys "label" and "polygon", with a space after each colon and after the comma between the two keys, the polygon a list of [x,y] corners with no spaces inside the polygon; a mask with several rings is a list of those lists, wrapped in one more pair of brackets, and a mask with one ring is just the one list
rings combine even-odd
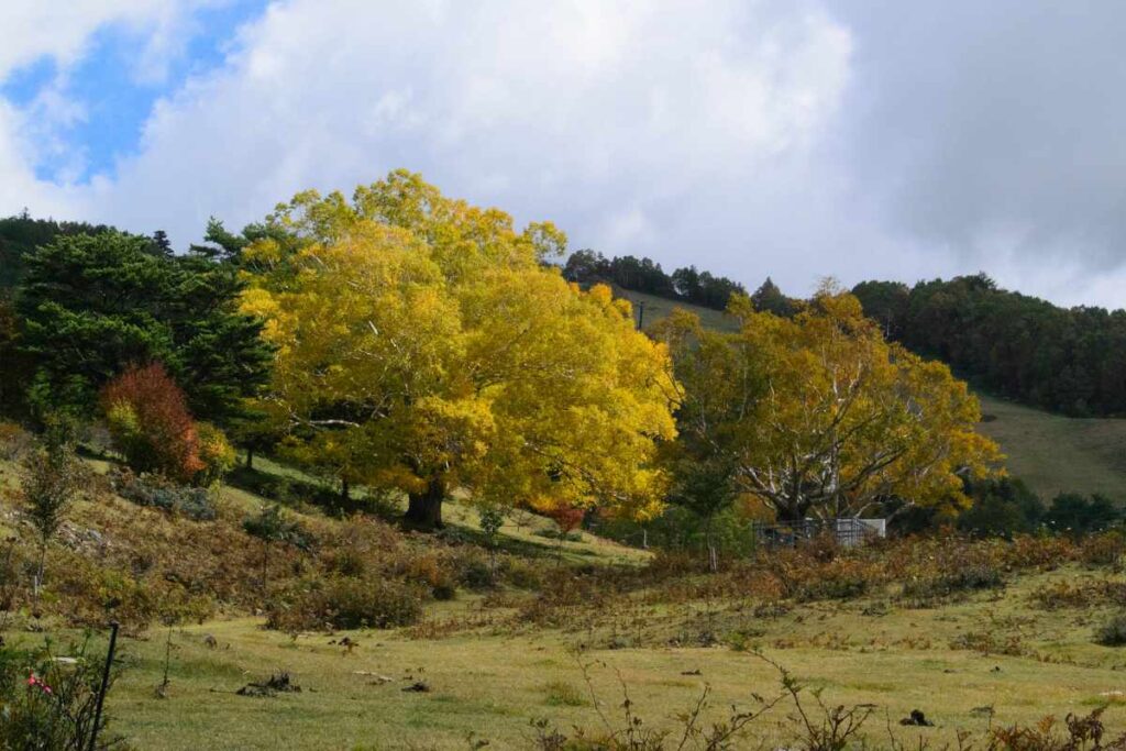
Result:
{"label": "entire cloudy sky with blue patch above the trees and ridge", "polygon": [[788,294],[1126,306],[1116,0],[5,0],[0,215],[198,241],[396,168]]}

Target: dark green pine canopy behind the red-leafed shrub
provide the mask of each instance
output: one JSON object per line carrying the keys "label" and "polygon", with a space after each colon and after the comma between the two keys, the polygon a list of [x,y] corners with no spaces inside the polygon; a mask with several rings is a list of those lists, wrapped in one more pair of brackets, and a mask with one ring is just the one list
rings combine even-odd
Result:
{"label": "dark green pine canopy behind the red-leafed shrub", "polygon": [[172,256],[151,239],[60,234],[24,256],[20,350],[35,400],[84,413],[131,366],[163,363],[197,417],[226,421],[266,381],[261,323],[238,310],[231,263]]}

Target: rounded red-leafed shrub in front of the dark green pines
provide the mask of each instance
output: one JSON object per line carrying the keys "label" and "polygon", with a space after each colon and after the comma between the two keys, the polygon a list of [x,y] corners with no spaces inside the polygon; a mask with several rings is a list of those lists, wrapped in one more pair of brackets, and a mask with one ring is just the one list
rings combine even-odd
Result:
{"label": "rounded red-leafed shrub in front of the dark green pines", "polygon": [[131,368],[101,392],[114,446],[135,472],[188,483],[205,468],[184,392],[164,366]]}

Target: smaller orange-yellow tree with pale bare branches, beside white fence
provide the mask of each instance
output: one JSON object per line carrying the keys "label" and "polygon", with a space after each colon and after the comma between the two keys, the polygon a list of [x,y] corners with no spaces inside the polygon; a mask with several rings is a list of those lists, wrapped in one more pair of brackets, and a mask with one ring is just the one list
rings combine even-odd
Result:
{"label": "smaller orange-yellow tree with pale bare branches, beside white fence", "polygon": [[825,286],[794,319],[745,298],[732,312],[738,334],[696,324],[691,336],[690,319],[664,334],[685,390],[682,441],[780,519],[861,515],[891,498],[964,504],[963,479],[994,471],[1000,453],[976,432],[966,385],[886,342],[851,295]]}

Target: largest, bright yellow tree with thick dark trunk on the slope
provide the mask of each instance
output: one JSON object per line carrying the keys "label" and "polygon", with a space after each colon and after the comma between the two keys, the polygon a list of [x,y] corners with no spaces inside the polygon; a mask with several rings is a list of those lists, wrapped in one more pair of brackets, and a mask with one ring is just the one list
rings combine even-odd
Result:
{"label": "largest, bright yellow tree with thick dark trunk on the slope", "polygon": [[266,400],[285,445],[345,482],[396,488],[441,524],[461,488],[537,508],[652,512],[674,435],[668,350],[626,303],[544,263],[565,238],[399,171],[298,195],[244,250],[244,310],[277,347]]}

